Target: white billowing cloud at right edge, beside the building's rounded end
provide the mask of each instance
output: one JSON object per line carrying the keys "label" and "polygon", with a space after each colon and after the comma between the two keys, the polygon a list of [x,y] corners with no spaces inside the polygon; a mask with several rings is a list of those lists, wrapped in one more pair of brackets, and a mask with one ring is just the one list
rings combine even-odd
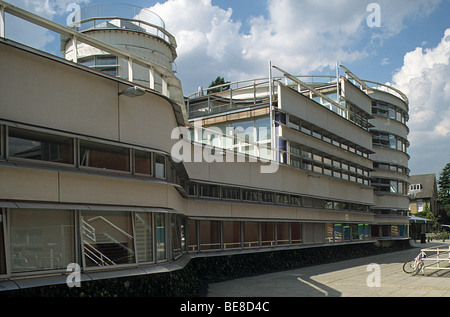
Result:
{"label": "white billowing cloud at right edge, beside the building's rounded end", "polygon": [[[411,167],[439,171],[450,155],[450,28],[434,48],[416,48],[393,76],[410,100]],[[445,153],[446,156],[442,156]],[[423,164],[427,162],[427,164]]]}

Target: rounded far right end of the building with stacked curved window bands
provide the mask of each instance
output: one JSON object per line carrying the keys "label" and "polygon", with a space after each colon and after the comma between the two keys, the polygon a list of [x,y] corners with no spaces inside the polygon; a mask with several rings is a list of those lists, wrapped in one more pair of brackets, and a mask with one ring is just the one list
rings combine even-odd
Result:
{"label": "rounded far right end of the building with stacked curved window bands", "polygon": [[[371,89],[372,115],[370,123],[374,154],[374,171],[371,173],[374,200],[373,211],[379,222],[380,236],[395,236],[396,216],[406,216],[409,209],[407,188],[409,184],[409,154],[407,122],[408,99],[389,87]],[[376,233],[375,233],[376,234]]]}

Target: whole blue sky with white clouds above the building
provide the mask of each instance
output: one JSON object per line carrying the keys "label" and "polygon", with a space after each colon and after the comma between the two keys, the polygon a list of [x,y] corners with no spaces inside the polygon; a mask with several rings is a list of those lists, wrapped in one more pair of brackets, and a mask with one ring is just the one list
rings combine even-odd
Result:
{"label": "whole blue sky with white clouds above the building", "polygon": [[[73,0],[10,0],[66,24]],[[411,174],[440,173],[450,161],[450,0],[77,0],[150,8],[178,42],[185,95],[217,76],[267,76],[268,62],[293,74],[335,74],[391,83],[410,99]],[[381,25],[369,27],[370,3]],[[8,17],[7,17],[8,22]],[[12,26],[11,26],[12,25]],[[59,38],[13,21],[7,37],[59,54]]]}

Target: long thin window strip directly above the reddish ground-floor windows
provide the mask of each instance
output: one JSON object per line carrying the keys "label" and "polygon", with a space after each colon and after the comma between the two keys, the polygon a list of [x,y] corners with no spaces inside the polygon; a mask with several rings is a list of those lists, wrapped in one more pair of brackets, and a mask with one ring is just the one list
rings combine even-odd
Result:
{"label": "long thin window strip directly above the reddish ground-floor windows", "polygon": [[249,203],[274,204],[337,211],[370,212],[370,206],[332,199],[301,196],[290,193],[258,190],[230,185],[188,182],[186,192],[192,198],[217,199]]}

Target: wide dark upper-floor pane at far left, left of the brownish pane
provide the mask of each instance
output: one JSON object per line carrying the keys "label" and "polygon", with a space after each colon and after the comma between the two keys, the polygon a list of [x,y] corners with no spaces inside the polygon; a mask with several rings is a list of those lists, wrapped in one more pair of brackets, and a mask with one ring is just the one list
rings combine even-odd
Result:
{"label": "wide dark upper-floor pane at far left, left of the brownish pane", "polygon": [[29,130],[8,128],[8,156],[73,164],[73,139]]}

